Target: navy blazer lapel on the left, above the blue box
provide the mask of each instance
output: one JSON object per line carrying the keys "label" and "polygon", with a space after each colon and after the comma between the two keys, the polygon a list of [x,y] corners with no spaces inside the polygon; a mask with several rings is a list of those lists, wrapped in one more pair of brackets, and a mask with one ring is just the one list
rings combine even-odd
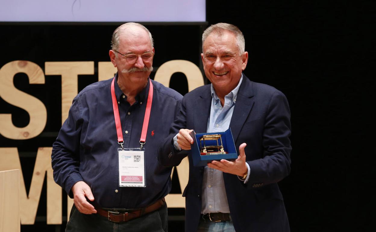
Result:
{"label": "navy blazer lapel on the left, above the blue box", "polygon": [[205,133],[208,127],[212,101],[210,85],[207,85],[207,88],[204,90],[200,93],[199,101],[196,103],[196,108],[194,109],[194,131],[196,133]]}

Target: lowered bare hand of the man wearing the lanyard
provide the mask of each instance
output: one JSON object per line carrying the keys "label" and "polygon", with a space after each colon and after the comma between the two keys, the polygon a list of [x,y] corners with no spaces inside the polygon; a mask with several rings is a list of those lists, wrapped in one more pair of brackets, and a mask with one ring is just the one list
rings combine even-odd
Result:
{"label": "lowered bare hand of the man wearing the lanyard", "polygon": [[94,200],[94,196],[91,193],[89,185],[83,181],[75,183],[72,187],[74,205],[78,211],[83,214],[96,214],[97,211],[85,198],[85,196],[90,200]]}

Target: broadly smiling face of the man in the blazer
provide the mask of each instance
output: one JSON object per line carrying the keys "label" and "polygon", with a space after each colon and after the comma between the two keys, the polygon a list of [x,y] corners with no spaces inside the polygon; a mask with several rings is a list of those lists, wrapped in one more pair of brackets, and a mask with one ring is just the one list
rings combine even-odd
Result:
{"label": "broadly smiling face of the man in the blazer", "polygon": [[240,53],[236,36],[229,31],[211,33],[203,43],[201,53],[206,77],[213,84],[218,97],[224,97],[239,83],[246,68],[248,52]]}

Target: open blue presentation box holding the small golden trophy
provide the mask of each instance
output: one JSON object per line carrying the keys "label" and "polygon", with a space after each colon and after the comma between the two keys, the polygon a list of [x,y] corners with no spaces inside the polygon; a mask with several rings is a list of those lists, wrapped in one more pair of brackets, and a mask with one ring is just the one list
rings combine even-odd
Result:
{"label": "open blue presentation box holding the small golden trophy", "polygon": [[[231,129],[227,129],[225,132],[214,132],[214,133],[195,133],[192,131],[190,135],[193,138],[194,143],[191,144],[191,152],[192,152],[192,158],[193,158],[193,165],[195,167],[199,166],[206,166],[207,163],[213,161],[213,160],[233,160],[238,158],[238,154],[236,152],[235,143],[232,137]],[[218,140],[205,140],[206,146],[215,146],[220,144],[220,140],[222,142],[222,146],[225,152],[227,154],[216,154],[216,155],[202,155],[202,146],[203,146],[203,140],[201,140],[200,145],[200,138],[203,135],[221,135],[221,138]],[[218,152],[219,153],[219,152]]]}

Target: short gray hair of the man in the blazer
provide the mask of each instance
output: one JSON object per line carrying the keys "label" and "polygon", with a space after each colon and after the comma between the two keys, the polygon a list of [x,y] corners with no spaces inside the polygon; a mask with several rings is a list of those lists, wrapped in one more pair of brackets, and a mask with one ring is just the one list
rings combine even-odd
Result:
{"label": "short gray hair of the man in the blazer", "polygon": [[239,48],[239,52],[240,54],[244,53],[246,49],[246,41],[244,40],[243,33],[239,30],[237,26],[234,26],[229,23],[217,23],[217,24],[211,25],[204,31],[204,33],[202,34],[202,51],[204,50],[205,39],[208,38],[208,36],[211,33],[216,33],[218,35],[221,35],[224,31],[232,32],[235,35],[236,45]]}

